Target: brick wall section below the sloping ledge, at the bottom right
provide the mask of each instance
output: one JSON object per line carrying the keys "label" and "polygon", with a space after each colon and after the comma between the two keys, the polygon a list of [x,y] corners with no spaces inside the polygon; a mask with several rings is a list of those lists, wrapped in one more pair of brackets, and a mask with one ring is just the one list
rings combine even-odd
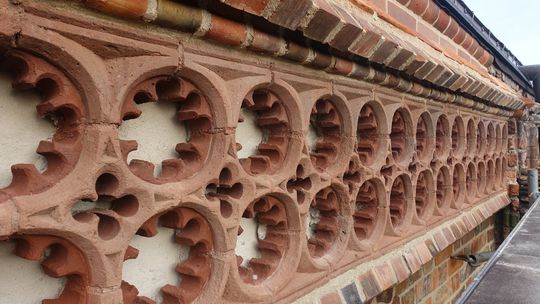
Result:
{"label": "brick wall section below the sloping ledge, at the bottom right", "polygon": [[[452,303],[471,283],[482,266],[471,267],[451,256],[496,249],[496,215],[485,220],[460,240],[446,247],[407,280],[392,286],[365,303]],[[325,303],[321,301],[321,303]]]}

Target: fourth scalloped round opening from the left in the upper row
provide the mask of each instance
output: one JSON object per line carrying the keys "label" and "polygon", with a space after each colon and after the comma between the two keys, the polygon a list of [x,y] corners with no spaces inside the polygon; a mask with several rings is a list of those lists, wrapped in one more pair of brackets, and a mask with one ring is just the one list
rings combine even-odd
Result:
{"label": "fourth scalloped round opening from the left in the upper row", "polygon": [[334,102],[319,99],[311,109],[307,136],[313,166],[324,170],[333,164],[341,151],[343,121]]}

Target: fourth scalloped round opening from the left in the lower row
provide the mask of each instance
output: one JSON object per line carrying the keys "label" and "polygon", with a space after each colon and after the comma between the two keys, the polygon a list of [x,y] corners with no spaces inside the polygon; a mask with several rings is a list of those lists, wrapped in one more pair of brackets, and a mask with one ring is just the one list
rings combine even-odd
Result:
{"label": "fourth scalloped round opening from the left in the lower row", "polygon": [[307,214],[306,234],[309,253],[314,258],[324,256],[339,236],[339,196],[332,187],[315,195]]}

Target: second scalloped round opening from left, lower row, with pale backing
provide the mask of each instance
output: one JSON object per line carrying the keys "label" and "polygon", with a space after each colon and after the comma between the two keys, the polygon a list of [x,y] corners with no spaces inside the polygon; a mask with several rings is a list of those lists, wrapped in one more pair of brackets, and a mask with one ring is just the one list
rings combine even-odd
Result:
{"label": "second scalloped round opening from left, lower row, with pale backing", "polygon": [[124,303],[191,303],[210,279],[212,250],[210,224],[198,212],[181,207],[150,218],[125,254]]}

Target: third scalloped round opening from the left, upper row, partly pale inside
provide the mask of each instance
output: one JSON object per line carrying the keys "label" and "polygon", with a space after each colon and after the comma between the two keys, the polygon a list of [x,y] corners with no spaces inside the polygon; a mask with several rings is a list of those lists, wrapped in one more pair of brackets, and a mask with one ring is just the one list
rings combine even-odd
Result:
{"label": "third scalloped round opening from the left, upper row, partly pale inside", "polygon": [[242,102],[236,150],[250,174],[271,174],[287,156],[290,122],[283,101],[266,89],[251,91]]}

